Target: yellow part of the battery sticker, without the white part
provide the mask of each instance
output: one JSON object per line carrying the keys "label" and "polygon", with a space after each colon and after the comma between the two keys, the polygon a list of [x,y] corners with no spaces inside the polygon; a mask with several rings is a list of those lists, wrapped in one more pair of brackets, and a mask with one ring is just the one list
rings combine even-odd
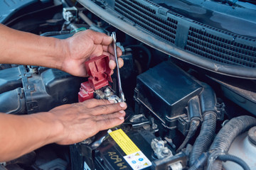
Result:
{"label": "yellow part of the battery sticker, without the white part", "polygon": [[125,154],[133,154],[139,152],[139,148],[132,142],[132,140],[124,133],[122,129],[109,132],[110,136],[117,142]]}

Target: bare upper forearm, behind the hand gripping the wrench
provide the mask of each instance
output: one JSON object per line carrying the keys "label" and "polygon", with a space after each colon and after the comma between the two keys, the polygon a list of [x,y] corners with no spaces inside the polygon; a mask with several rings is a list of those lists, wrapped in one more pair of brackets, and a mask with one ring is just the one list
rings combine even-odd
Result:
{"label": "bare upper forearm, behind the hand gripping the wrench", "polygon": [[67,55],[63,40],[14,30],[0,24],[0,63],[41,65],[60,69]]}

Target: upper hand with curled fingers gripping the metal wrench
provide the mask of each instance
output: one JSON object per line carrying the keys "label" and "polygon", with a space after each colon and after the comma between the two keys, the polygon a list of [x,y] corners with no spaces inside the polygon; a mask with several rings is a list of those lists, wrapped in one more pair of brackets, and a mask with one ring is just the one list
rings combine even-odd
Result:
{"label": "upper hand with curled fingers gripping the metal wrench", "polygon": [[[116,67],[114,62],[114,49],[112,47],[112,37],[97,33],[93,30],[85,30],[73,35],[73,37],[63,40],[67,47],[68,55],[63,57],[60,69],[74,76],[87,77],[85,61],[92,57],[107,55],[110,57],[110,69]],[[117,56],[120,57],[122,51],[117,47]],[[122,58],[118,58],[119,67],[124,65]],[[112,72],[113,73],[113,72]]]}

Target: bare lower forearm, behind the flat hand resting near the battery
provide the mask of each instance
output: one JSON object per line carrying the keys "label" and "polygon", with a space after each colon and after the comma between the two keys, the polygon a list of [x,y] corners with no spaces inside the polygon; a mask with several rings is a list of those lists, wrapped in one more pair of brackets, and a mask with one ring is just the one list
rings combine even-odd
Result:
{"label": "bare lower forearm, behind the flat hand resting near the battery", "polygon": [[0,113],[0,162],[20,157],[43,145],[56,142],[60,123],[51,113],[6,115]]}

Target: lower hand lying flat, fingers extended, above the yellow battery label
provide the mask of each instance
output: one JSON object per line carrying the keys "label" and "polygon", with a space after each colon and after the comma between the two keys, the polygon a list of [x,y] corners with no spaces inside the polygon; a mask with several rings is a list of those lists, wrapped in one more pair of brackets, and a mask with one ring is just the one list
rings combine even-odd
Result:
{"label": "lower hand lying flat, fingers extended, above the yellow battery label", "polygon": [[60,145],[70,145],[92,137],[124,122],[126,103],[90,99],[82,103],[58,106],[49,111],[62,128],[55,140]]}

